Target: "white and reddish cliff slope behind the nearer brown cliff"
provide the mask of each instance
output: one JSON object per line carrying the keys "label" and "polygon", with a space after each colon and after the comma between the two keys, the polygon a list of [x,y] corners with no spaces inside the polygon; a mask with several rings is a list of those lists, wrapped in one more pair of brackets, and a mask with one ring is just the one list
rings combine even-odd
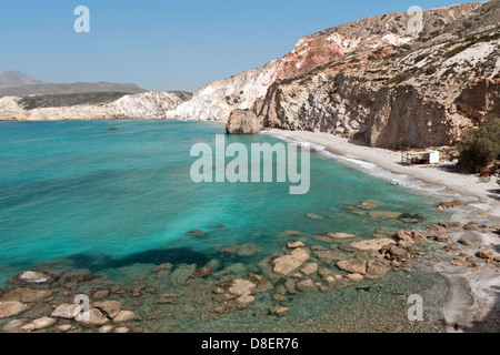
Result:
{"label": "white and reddish cliff slope behind the nearer brown cliff", "polygon": [[[423,27],[441,29],[453,21],[453,17],[460,18],[480,4],[471,2],[453,6],[451,12],[449,8],[426,11]],[[408,27],[410,20],[408,13],[378,16],[303,37],[283,58],[200,89],[192,100],[167,112],[167,116],[226,121],[232,110],[250,109],[256,101],[266,97],[277,80],[309,73],[349,53],[411,42],[417,33]]]}

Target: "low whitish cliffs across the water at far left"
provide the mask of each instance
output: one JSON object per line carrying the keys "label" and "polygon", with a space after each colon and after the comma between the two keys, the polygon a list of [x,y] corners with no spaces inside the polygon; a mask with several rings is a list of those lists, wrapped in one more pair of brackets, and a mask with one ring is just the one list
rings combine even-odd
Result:
{"label": "low whitish cliffs across the water at far left", "polygon": [[0,99],[0,120],[110,120],[110,119],[164,119],[164,112],[177,108],[190,95],[182,92],[144,92],[124,95],[102,104],[79,104],[59,108],[26,110],[22,99]]}

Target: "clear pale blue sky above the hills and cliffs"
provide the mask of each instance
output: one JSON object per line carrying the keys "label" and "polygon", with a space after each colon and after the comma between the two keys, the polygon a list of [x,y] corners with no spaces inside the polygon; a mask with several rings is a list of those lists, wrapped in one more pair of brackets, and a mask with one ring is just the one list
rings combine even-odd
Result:
{"label": "clear pale blue sky above the hills and cliffs", "polygon": [[[261,67],[299,38],[369,16],[460,0],[1,0],[0,71],[48,82],[196,91]],[[73,30],[77,6],[90,33]]]}

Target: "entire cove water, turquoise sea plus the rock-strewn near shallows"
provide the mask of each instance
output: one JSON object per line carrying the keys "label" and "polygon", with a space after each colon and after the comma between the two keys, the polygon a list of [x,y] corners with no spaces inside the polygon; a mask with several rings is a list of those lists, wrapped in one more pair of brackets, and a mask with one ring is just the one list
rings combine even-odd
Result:
{"label": "entire cove water, turquoise sea plus the rock-strewn near shallows", "polygon": [[[424,192],[417,183],[418,193],[322,154],[311,155],[306,195],[290,195],[288,184],[276,182],[192,182],[192,144],[213,144],[222,132],[220,123],[168,120],[0,123],[0,300],[16,287],[50,293],[43,303],[27,302],[29,310],[0,318],[0,328],[13,318],[31,324],[87,294],[92,303],[118,301],[133,312],[102,325],[134,332],[446,329],[450,283],[432,266],[436,255],[447,260],[444,244],[418,245],[416,255],[426,256],[416,256],[410,268],[401,265],[377,277],[362,272],[370,277],[361,281],[348,277],[357,273],[338,262],[373,261],[369,252],[349,248],[354,241],[387,241],[388,231],[456,221],[461,211],[437,210],[456,194]],[[280,141],[259,134],[228,136],[231,142]],[[468,202],[467,222],[488,205]],[[489,206],[494,212],[498,202]],[[274,278],[269,265],[280,255],[300,254],[296,251],[307,253],[302,264]],[[27,270],[43,271],[50,283],[6,283]],[[426,300],[423,322],[407,318],[413,294]],[[58,332],[67,324],[76,332],[97,329],[64,318],[43,329]]]}

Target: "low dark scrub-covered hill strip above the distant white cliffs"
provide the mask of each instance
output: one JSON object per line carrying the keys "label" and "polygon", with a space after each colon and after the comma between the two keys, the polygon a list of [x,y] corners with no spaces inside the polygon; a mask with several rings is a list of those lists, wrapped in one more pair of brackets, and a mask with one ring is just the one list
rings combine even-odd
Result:
{"label": "low dark scrub-covered hill strip above the distant white cliffs", "polygon": [[[28,77],[29,78],[29,77]],[[3,97],[30,97],[30,95],[54,95],[54,94],[78,94],[89,92],[146,92],[136,84],[122,84],[112,82],[76,82],[72,84],[36,83],[19,87],[0,87],[0,98]]]}

